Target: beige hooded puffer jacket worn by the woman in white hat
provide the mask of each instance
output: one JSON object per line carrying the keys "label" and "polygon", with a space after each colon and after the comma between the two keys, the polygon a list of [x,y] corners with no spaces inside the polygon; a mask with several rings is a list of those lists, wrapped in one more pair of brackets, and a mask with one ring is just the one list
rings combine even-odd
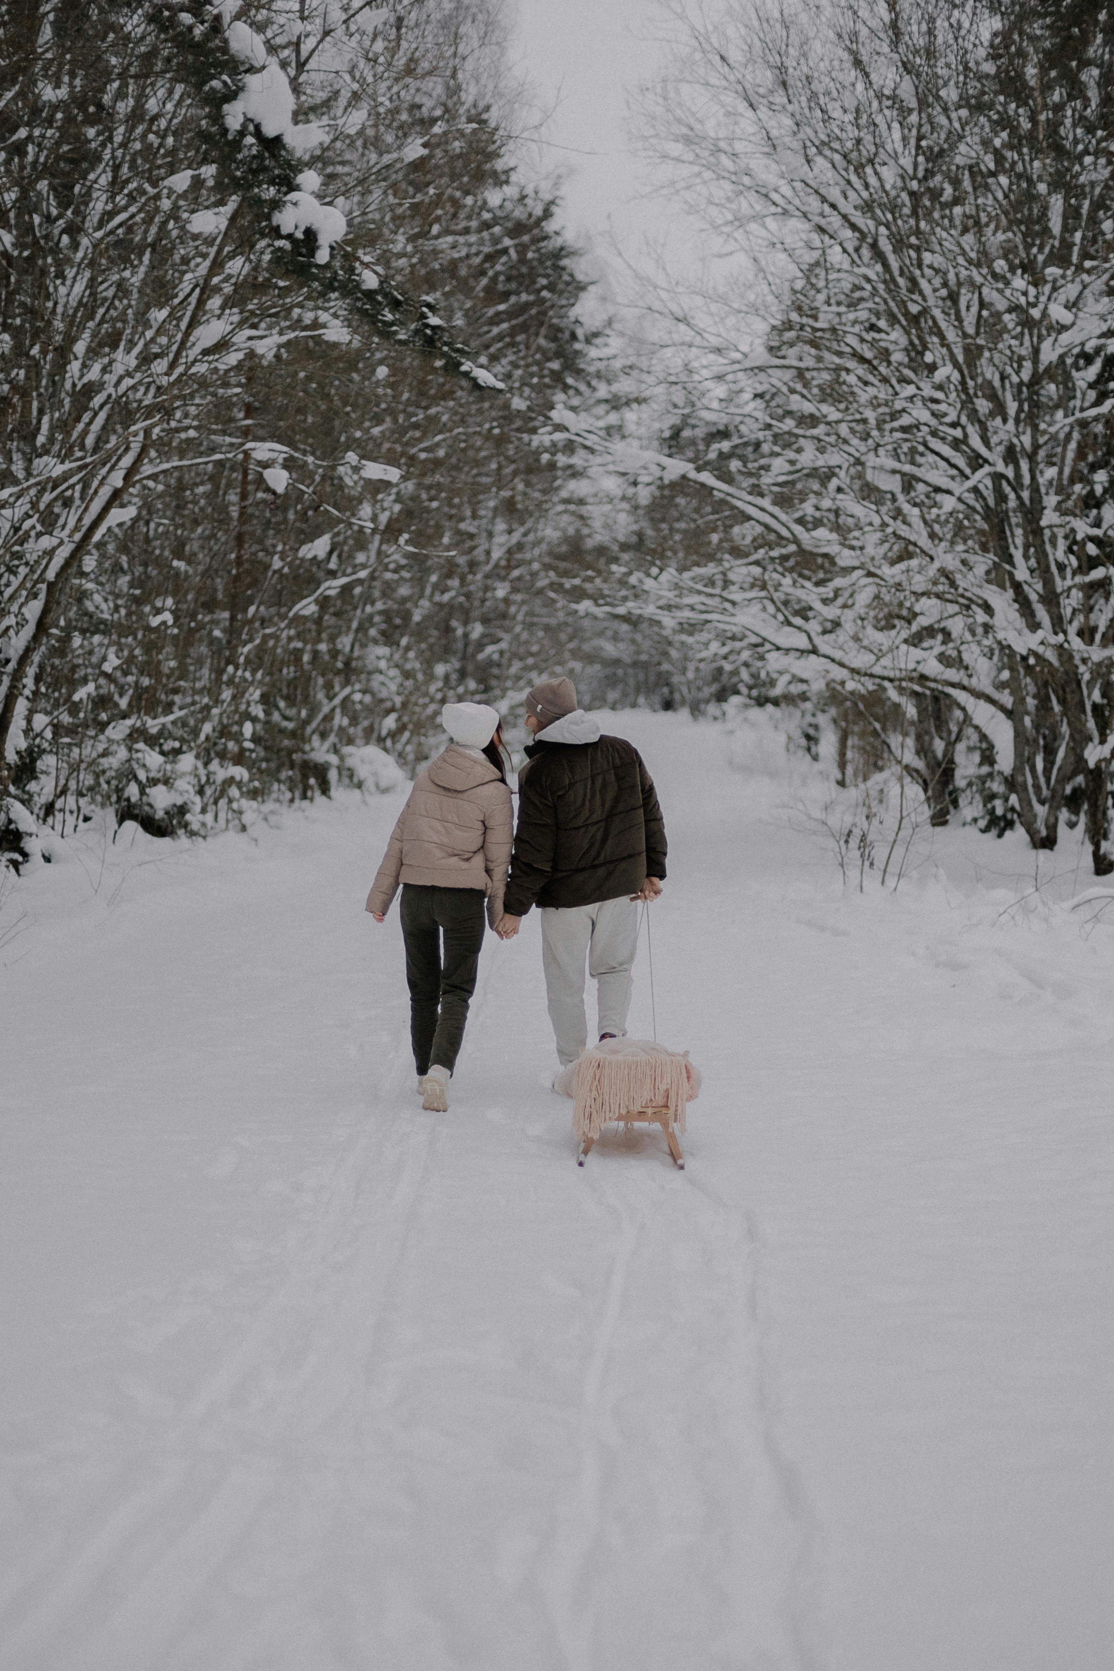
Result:
{"label": "beige hooded puffer jacket worn by the woman in white hat", "polygon": [[449,744],[414,782],[366,909],[386,912],[399,882],[478,887],[494,927],[509,862],[511,790],[478,750]]}

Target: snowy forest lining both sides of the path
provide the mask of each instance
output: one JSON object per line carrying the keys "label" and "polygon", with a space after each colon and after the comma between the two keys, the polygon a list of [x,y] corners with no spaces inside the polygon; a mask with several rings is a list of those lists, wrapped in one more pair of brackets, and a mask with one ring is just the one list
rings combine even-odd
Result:
{"label": "snowy forest lining both sides of the path", "polygon": [[8,862],[570,672],[1114,869],[1111,12],[675,23],[645,144],[727,277],[600,323],[496,0],[7,7]]}

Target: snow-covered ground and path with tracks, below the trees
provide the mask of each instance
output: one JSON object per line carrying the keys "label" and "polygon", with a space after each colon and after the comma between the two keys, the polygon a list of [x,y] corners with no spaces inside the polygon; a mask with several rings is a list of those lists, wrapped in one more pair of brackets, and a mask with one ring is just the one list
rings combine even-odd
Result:
{"label": "snow-covered ground and path with tracks, below the trees", "polygon": [[1094,879],[947,830],[842,894],[760,734],[611,727],[683,1175],[576,1168],[533,917],[421,1111],[399,794],[8,891],[3,1671],[1109,1671]]}

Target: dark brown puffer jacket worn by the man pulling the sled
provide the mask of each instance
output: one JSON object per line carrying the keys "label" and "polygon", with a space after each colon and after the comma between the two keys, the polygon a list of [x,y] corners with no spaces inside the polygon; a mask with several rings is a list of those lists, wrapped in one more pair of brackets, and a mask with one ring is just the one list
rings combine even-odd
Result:
{"label": "dark brown puffer jacket worn by the man pulling the sled", "polygon": [[591,906],[665,877],[665,824],[633,744],[601,737],[580,709],[526,749],[503,909]]}

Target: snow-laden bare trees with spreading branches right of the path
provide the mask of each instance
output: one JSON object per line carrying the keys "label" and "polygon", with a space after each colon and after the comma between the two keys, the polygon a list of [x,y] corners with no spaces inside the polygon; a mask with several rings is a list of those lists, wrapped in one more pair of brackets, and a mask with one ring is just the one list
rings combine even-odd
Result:
{"label": "snow-laden bare trees with spreading branches right of the path", "polygon": [[1079,785],[1109,871],[1109,8],[727,3],[683,28],[658,149],[720,242],[762,257],[777,326],[763,356],[693,334],[735,446],[660,470],[750,533],[655,576],[651,610],[945,697],[1034,846]]}

